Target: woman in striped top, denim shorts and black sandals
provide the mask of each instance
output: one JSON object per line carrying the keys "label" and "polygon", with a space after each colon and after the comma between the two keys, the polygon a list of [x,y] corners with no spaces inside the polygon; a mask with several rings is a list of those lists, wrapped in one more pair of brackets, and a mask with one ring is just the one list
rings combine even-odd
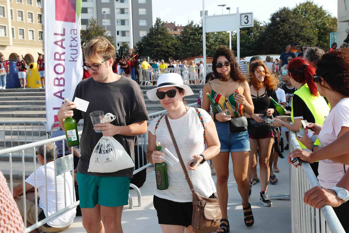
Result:
{"label": "woman in striped top, denim shorts and black sandals", "polygon": [[[213,56],[212,70],[215,79],[206,83],[203,87],[202,108],[207,112],[210,110],[210,101],[206,93],[210,93],[214,101],[223,109],[222,112],[210,114],[221,143],[220,153],[213,159],[217,174],[217,194],[222,219],[220,231],[229,232],[228,221],[228,178],[229,157],[233,163],[233,175],[242,199],[244,212],[244,223],[247,227],[254,224],[251,204],[248,202],[247,168],[250,143],[248,132],[234,129],[229,121],[232,118],[245,117],[253,113],[253,103],[246,76],[241,73],[233,51],[225,46],[219,47]],[[232,106],[235,111],[232,111]],[[227,111],[231,114],[226,115]]]}

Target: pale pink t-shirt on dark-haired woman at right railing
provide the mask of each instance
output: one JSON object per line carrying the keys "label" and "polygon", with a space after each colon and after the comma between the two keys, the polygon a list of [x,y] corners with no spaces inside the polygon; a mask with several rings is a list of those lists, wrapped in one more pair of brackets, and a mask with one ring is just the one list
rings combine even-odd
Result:
{"label": "pale pink t-shirt on dark-haired woman at right railing", "polygon": [[[349,98],[344,98],[329,112],[319,133],[321,146],[327,146],[337,139],[342,127],[349,127]],[[348,172],[348,165],[345,165]],[[329,159],[319,161],[318,180],[322,187],[332,189],[344,175],[343,163]]]}

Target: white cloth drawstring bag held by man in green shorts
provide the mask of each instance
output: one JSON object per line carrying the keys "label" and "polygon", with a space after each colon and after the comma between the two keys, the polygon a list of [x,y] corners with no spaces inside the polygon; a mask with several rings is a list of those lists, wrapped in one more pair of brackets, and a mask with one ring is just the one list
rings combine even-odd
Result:
{"label": "white cloth drawstring bag held by man in green shorts", "polygon": [[[114,121],[115,115],[107,113],[101,123]],[[134,167],[133,160],[124,147],[113,137],[103,136],[92,151],[88,172],[110,173]]]}

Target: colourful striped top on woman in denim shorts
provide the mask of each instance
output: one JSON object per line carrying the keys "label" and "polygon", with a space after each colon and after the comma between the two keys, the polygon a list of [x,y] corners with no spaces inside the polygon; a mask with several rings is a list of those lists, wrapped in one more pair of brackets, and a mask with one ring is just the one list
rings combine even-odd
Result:
{"label": "colourful striped top on woman in denim shorts", "polygon": [[[230,105],[235,106],[235,111],[234,111],[234,114],[233,114],[232,117],[245,116],[245,114],[244,114],[244,106],[239,104],[239,103],[237,103],[235,101],[235,94],[237,94],[237,93],[241,94],[240,87],[238,87],[236,89],[236,91],[233,92],[228,97],[224,97],[224,96],[220,95],[219,93],[215,92],[213,89],[211,89],[211,97],[213,98],[213,100],[217,104],[219,104],[221,106],[221,108],[223,110],[224,109],[228,109],[228,111],[231,111]],[[227,103],[230,103],[230,105],[227,104]]]}

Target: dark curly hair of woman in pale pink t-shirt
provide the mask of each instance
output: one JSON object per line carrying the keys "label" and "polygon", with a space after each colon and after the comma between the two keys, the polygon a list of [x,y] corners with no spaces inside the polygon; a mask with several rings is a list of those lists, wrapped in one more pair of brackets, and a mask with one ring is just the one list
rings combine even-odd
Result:
{"label": "dark curly hair of woman in pale pink t-shirt", "polygon": [[[341,48],[325,53],[316,63],[316,74],[334,92],[349,96],[349,49]],[[322,88],[321,82],[317,82]]]}

